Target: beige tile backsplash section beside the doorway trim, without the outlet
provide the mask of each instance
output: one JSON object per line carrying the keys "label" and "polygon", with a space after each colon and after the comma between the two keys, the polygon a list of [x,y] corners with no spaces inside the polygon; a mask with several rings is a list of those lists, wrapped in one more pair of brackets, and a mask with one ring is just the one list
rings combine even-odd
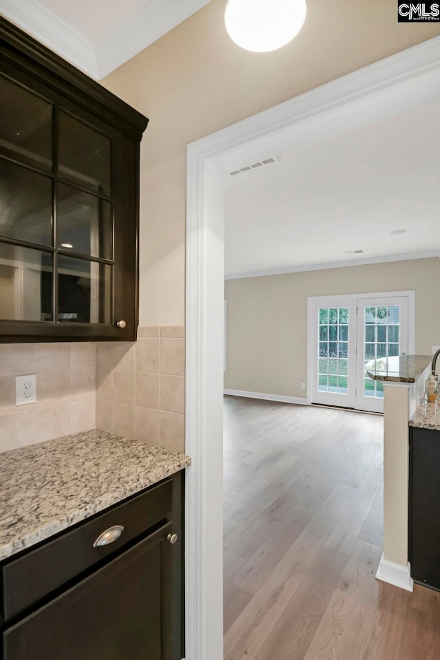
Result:
{"label": "beige tile backsplash section beside the doorway trim, without the outlet", "polygon": [[99,343],[96,427],[184,451],[185,329],[141,326],[135,343]]}

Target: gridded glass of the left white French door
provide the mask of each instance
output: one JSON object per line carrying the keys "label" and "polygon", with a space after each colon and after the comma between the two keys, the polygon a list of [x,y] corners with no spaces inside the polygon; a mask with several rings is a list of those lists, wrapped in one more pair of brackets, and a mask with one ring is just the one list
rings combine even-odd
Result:
{"label": "gridded glass of the left white French door", "polygon": [[[318,313],[318,390],[347,394],[349,309],[321,308]],[[326,341],[325,341],[326,340]],[[327,359],[329,358],[329,359]]]}

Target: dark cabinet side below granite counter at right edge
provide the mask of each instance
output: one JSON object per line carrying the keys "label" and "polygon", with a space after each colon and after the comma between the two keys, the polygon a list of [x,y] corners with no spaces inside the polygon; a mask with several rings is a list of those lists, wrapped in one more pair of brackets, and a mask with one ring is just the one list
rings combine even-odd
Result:
{"label": "dark cabinet side below granite counter at right edge", "polygon": [[409,559],[412,579],[440,590],[440,432],[410,430]]}

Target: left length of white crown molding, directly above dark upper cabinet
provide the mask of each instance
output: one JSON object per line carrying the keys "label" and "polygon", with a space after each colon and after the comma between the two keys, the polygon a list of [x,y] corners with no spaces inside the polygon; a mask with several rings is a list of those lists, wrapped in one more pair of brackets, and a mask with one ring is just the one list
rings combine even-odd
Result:
{"label": "left length of white crown molding, directly above dark upper cabinet", "polygon": [[36,0],[0,0],[0,12],[34,39],[92,78],[98,78],[94,45]]}

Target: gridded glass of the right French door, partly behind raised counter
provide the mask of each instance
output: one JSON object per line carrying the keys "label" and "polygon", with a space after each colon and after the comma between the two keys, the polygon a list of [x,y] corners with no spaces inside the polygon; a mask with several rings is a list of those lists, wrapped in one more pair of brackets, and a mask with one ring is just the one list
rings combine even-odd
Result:
{"label": "gridded glass of the right French door, partly behind raised counter", "polygon": [[[364,311],[364,364],[399,355],[400,306],[366,307]],[[384,398],[384,387],[365,372],[364,396]]]}

